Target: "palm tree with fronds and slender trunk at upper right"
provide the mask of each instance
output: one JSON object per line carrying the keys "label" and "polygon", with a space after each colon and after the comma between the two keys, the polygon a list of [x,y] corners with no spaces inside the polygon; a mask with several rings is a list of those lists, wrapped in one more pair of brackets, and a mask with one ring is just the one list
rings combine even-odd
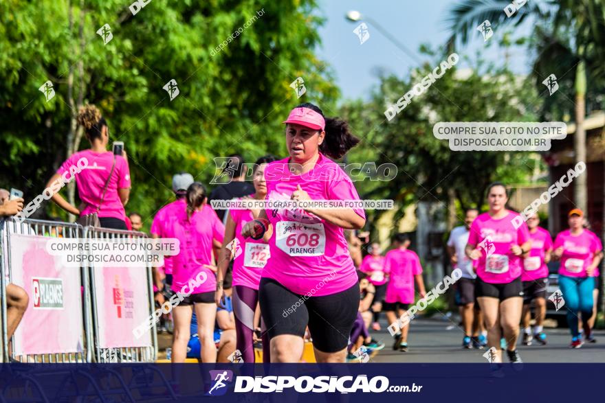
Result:
{"label": "palm tree with fronds and slender trunk at upper right", "polygon": [[[528,1],[508,17],[503,9],[510,4],[508,0],[464,0],[454,5],[449,17],[450,49],[456,42],[467,43],[468,35],[476,27],[488,20],[494,29],[501,25],[518,26],[530,16],[537,22],[533,27],[533,36],[542,38],[538,47],[538,56],[534,60],[534,71],[541,86],[545,76],[540,71],[572,62],[575,68],[575,122],[574,137],[575,161],[586,160],[586,68],[592,78],[602,78],[605,56],[605,5],[602,0],[542,0]],[[556,51],[554,51],[556,50]],[[575,205],[586,211],[587,190],[586,175],[578,176],[574,181]]]}

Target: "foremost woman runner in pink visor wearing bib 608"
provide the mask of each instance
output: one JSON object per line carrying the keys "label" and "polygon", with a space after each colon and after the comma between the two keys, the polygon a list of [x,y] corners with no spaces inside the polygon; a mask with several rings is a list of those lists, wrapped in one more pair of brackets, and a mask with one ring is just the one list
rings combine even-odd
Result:
{"label": "foremost woman runner in pink visor wearing bib 608", "polygon": [[[259,215],[270,221],[273,232],[259,289],[271,362],[300,361],[307,324],[317,362],[345,362],[359,286],[343,229],[362,228],[365,213],[344,202],[336,209],[308,203],[359,200],[349,176],[329,159],[339,159],[359,139],[346,122],[325,118],[314,104],[297,106],[284,123],[290,157],[265,168],[266,200],[275,204]],[[296,209],[276,205],[289,200],[307,204]],[[259,222],[248,222],[242,231],[244,236],[257,233]]]}

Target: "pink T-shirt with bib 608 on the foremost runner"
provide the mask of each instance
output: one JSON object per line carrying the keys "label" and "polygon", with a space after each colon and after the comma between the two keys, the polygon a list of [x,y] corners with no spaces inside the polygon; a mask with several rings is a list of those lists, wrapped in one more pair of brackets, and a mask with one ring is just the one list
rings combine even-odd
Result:
{"label": "pink T-shirt with bib 608 on the foremost runner", "polygon": [[[359,200],[349,176],[322,154],[315,167],[305,174],[283,172],[281,167],[285,163],[289,163],[289,159],[274,161],[265,168],[267,200],[289,200],[298,185],[312,200]],[[316,180],[324,170],[330,172],[331,181]],[[354,211],[365,218],[362,209]],[[265,212],[274,233],[269,241],[271,258],[263,269],[263,277],[274,279],[289,290],[304,295],[332,272],[336,273],[317,290],[316,296],[347,290],[357,283],[357,273],[342,228],[303,209]]]}

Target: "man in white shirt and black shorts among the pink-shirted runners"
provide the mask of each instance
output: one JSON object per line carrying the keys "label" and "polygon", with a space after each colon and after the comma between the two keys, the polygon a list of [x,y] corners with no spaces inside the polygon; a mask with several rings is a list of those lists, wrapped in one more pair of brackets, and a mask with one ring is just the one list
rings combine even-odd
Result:
{"label": "man in white shirt and black shorts among the pink-shirted runners", "polygon": [[456,305],[459,306],[460,317],[464,329],[462,347],[467,349],[483,348],[485,334],[483,334],[483,318],[478,304],[475,303],[475,273],[473,262],[464,253],[468,242],[470,225],[478,216],[477,209],[467,209],[464,225],[452,229],[448,240],[448,253],[452,270],[462,270],[462,277],[456,281]]}

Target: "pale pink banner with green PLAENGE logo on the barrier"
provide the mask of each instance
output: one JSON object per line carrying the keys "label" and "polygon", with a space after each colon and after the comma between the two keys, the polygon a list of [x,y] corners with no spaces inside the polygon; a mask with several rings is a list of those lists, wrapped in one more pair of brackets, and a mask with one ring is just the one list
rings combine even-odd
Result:
{"label": "pale pink banner with green PLAENGE logo on the barrier", "polygon": [[10,234],[12,283],[30,296],[14,333],[13,356],[84,352],[80,269],[50,255],[48,239]]}

